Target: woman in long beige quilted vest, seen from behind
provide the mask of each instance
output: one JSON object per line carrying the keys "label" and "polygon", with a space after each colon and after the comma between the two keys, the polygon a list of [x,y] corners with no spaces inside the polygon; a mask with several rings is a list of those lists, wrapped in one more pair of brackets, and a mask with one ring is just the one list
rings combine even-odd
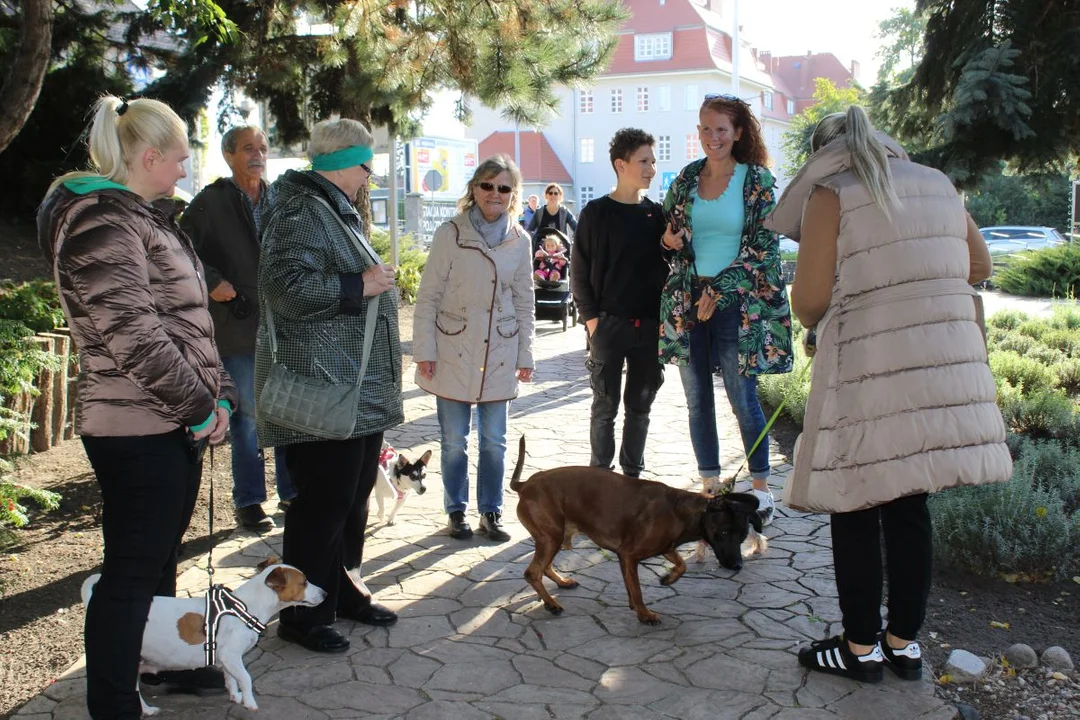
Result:
{"label": "woman in long beige quilted vest, seen from behind", "polygon": [[811,147],[766,221],[800,241],[792,309],[816,334],[784,502],[832,514],[843,614],[843,635],[801,650],[799,663],[866,682],[888,666],[916,680],[928,494],[1012,472],[971,287],[990,257],[949,179],[908,161],[861,108],[823,119]]}

